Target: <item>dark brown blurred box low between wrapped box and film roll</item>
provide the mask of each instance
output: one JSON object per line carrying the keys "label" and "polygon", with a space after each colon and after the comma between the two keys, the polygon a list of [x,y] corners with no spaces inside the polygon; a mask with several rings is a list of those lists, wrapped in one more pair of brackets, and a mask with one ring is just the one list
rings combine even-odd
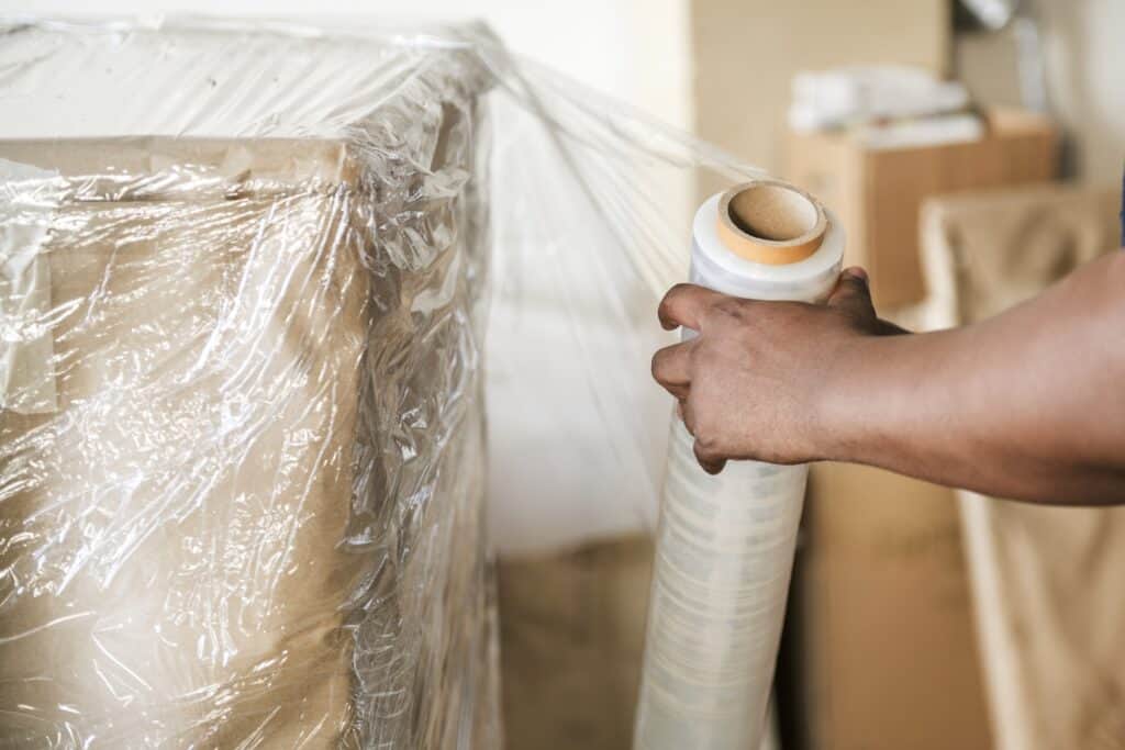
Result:
{"label": "dark brown blurred box low between wrapped box and film roll", "polygon": [[621,536],[498,561],[508,748],[632,747],[652,555]]}

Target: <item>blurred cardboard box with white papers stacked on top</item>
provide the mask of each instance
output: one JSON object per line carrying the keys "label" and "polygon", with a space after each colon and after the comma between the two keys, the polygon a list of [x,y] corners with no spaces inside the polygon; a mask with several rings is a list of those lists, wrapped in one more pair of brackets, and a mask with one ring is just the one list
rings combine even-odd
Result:
{"label": "blurred cardboard box with white papers stacked on top", "polygon": [[926,198],[1055,177],[1058,134],[1046,118],[996,110],[986,119],[980,141],[910,148],[873,150],[847,133],[790,134],[785,177],[836,211],[848,234],[845,262],[871,273],[876,305],[925,297],[918,209]]}

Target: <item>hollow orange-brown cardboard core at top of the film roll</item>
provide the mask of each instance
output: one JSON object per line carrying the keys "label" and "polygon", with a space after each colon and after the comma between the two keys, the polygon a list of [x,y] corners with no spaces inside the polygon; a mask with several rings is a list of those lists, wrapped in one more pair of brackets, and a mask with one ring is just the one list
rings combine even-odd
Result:
{"label": "hollow orange-brown cardboard core at top of the film roll", "polygon": [[755,263],[803,261],[820,247],[827,228],[817,199],[780,180],[745,182],[719,200],[719,240]]}

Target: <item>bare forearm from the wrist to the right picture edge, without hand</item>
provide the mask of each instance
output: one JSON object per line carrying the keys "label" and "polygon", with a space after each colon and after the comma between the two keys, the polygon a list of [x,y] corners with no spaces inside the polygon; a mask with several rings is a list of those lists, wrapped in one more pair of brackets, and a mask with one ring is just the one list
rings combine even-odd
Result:
{"label": "bare forearm from the wrist to the right picture edge, without hand", "polygon": [[1029,500],[1125,498],[1125,256],[965,328],[871,337],[826,383],[825,458]]}

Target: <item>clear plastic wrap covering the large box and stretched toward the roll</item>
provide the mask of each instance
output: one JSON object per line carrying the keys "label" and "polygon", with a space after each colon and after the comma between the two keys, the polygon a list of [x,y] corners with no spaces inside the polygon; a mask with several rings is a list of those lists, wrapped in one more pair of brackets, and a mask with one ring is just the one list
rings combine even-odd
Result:
{"label": "clear plastic wrap covering the large box and stretched toward the roll", "polygon": [[485,497],[651,525],[656,301],[757,170],[479,26],[0,38],[0,744],[497,747]]}

